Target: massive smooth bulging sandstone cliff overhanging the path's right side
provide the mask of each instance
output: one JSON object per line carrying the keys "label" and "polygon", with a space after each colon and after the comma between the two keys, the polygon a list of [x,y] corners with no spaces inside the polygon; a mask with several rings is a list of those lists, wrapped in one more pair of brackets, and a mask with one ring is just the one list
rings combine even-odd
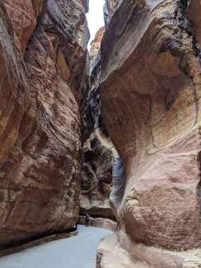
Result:
{"label": "massive smooth bulging sandstone cliff overhanging the path's right side", "polygon": [[[135,262],[140,254],[126,240],[200,248],[200,1],[111,2],[101,46],[101,107],[123,163],[115,186],[123,194],[111,196],[125,238],[117,233],[118,245]],[[187,267],[170,256],[169,266],[144,257],[143,267]]]}

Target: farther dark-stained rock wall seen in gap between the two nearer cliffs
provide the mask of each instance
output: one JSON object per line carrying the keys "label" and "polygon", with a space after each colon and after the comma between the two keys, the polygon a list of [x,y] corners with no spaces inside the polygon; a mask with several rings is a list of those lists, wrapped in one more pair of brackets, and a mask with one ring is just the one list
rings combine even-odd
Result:
{"label": "farther dark-stained rock wall seen in gap between the two nearer cliffs", "polygon": [[101,28],[92,41],[90,91],[87,97],[87,106],[81,117],[83,164],[80,214],[88,212],[95,217],[114,218],[109,205],[114,147],[106,132],[99,110],[99,48],[103,34],[104,28]]}

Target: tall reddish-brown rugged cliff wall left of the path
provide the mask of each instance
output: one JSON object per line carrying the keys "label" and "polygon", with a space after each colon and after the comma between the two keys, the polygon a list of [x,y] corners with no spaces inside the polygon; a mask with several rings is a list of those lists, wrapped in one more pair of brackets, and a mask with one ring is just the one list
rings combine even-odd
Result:
{"label": "tall reddish-brown rugged cliff wall left of the path", "polygon": [[78,217],[78,104],[88,32],[81,1],[5,0],[0,8],[0,246],[5,247],[71,229]]}

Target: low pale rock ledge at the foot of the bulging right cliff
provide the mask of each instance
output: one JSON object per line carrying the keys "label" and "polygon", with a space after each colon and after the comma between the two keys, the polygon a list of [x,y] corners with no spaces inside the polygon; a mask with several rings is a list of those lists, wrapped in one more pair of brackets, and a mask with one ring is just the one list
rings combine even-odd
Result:
{"label": "low pale rock ledge at the foot of the bulging right cliff", "polygon": [[170,251],[136,243],[124,231],[103,238],[97,253],[97,268],[199,268],[201,249]]}

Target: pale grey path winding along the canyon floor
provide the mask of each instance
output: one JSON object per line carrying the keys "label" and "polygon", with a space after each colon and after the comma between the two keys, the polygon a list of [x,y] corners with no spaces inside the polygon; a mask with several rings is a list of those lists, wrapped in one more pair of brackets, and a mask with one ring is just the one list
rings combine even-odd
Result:
{"label": "pale grey path winding along the canyon floor", "polygon": [[95,268],[99,241],[111,231],[78,225],[78,236],[0,258],[1,268]]}

